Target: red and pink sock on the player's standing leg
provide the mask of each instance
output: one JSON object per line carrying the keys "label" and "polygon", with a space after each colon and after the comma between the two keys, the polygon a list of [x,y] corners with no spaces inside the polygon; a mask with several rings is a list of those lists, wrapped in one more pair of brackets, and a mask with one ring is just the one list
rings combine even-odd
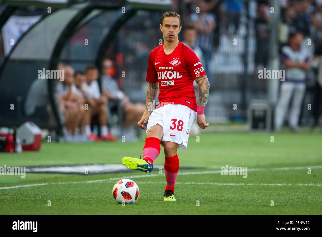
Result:
{"label": "red and pink sock on the player's standing leg", "polygon": [[179,170],[179,158],[178,154],[175,154],[171,157],[166,157],[164,162],[164,169],[166,173],[166,190],[171,190],[175,193],[175,181],[177,179],[178,170]]}

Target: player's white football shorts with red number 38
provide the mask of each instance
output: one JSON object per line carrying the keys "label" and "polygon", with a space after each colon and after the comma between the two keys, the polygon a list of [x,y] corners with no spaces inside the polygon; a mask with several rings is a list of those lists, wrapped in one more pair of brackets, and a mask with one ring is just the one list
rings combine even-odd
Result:
{"label": "player's white football shorts with red number 38", "polygon": [[196,118],[197,112],[186,105],[166,104],[151,113],[146,131],[159,124],[163,127],[162,141],[178,143],[178,148],[185,150],[188,146],[189,131]]}

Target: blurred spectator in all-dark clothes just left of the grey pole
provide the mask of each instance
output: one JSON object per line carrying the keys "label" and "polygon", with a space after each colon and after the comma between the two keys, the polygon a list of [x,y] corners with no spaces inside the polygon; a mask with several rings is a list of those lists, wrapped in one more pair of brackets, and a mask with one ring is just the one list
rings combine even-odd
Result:
{"label": "blurred spectator in all-dark clothes just left of the grey pole", "polygon": [[[255,19],[255,32],[256,32],[256,54],[255,64],[256,66],[262,65],[266,67],[268,57],[269,41],[270,41],[270,16],[266,11],[267,5],[260,3],[257,10],[257,18]],[[258,69],[255,66],[255,71]]]}

